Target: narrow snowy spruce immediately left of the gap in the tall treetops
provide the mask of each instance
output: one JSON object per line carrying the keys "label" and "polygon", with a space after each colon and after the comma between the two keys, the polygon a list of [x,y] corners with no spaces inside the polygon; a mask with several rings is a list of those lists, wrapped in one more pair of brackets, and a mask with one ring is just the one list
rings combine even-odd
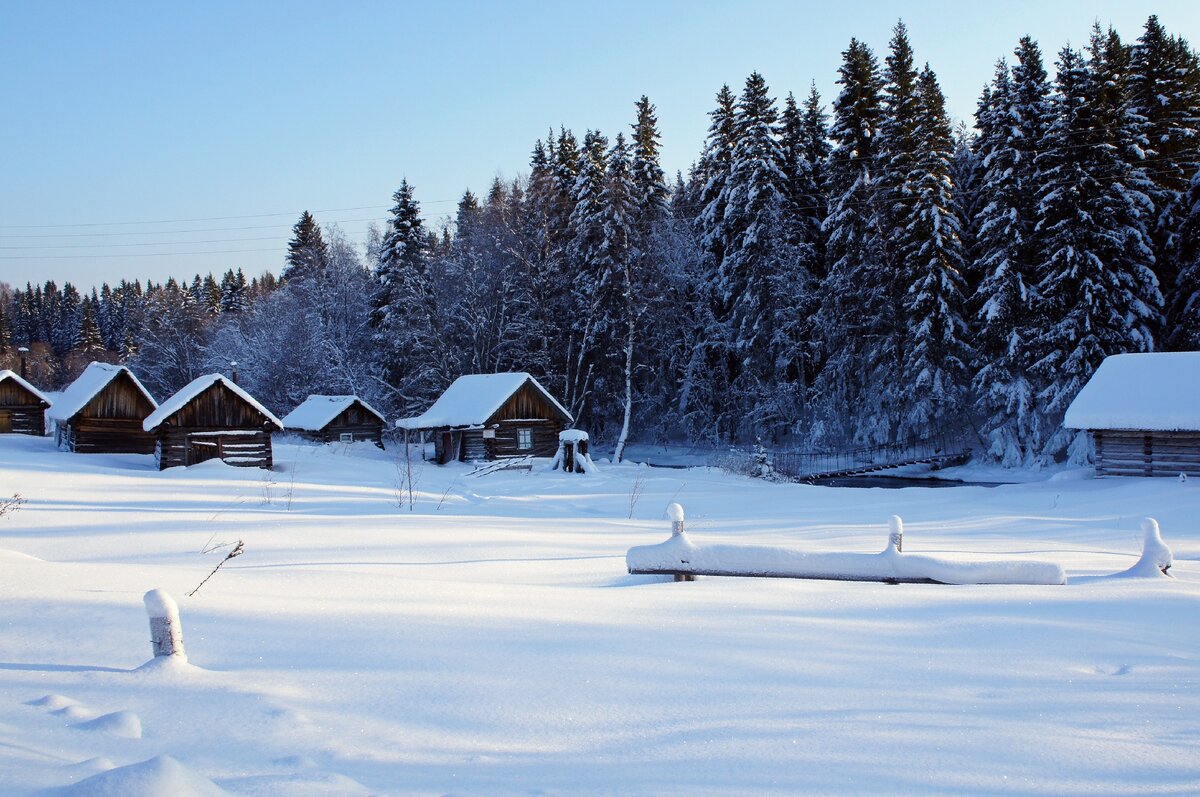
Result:
{"label": "narrow snowy spruce immediately left of the gap in the tall treetops", "polygon": [[917,79],[916,156],[906,180],[905,292],[907,341],[900,401],[901,437],[954,429],[966,415],[970,349],[962,319],[962,241],[950,167],[954,139],[946,98],[926,65]]}

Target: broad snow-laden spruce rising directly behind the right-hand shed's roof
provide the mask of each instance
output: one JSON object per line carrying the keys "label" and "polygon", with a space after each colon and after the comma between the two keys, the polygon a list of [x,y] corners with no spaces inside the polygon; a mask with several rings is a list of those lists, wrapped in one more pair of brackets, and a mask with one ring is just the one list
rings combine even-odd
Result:
{"label": "broad snow-laden spruce rising directly behind the right-hand shed's roof", "polygon": [[1055,119],[1037,156],[1038,311],[1034,373],[1046,429],[1043,456],[1082,462],[1086,433],[1061,427],[1062,415],[1105,356],[1153,348],[1162,296],[1152,270],[1151,203],[1136,190],[1124,79],[1111,40],[1097,30],[1091,59],[1058,56]]}

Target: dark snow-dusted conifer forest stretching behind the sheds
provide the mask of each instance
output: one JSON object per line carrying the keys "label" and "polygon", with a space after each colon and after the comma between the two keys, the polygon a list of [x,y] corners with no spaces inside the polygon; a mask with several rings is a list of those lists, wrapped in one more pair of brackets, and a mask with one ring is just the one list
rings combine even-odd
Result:
{"label": "dark snow-dusted conifer forest stretching behind the sheds", "polygon": [[529,371],[618,456],[952,430],[1009,466],[1082,461],[1062,415],[1106,355],[1200,349],[1196,53],[1154,17],[1022,38],[973,128],[902,23],[838,76],[832,103],[721,86],[688,174],[642,97],[628,131],[548,130],[444,227],[407,181],[365,247],[305,212],[277,278],[0,286],[0,366],[26,346],[53,389],[122,361],[163,397],[236,360],[275,411],[354,392],[392,417]]}

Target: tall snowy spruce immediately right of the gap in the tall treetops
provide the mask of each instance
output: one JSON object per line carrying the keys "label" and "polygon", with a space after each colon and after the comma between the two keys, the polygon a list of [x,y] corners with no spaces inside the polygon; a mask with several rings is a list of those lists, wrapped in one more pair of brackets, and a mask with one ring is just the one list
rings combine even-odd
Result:
{"label": "tall snowy spruce immediately right of the gap in the tall treetops", "polygon": [[1034,158],[1052,118],[1049,94],[1042,53],[1026,36],[1012,76],[997,65],[978,113],[986,203],[977,220],[973,388],[986,455],[1006,466],[1028,462],[1045,441],[1031,341],[1043,326],[1034,312],[1042,253]]}

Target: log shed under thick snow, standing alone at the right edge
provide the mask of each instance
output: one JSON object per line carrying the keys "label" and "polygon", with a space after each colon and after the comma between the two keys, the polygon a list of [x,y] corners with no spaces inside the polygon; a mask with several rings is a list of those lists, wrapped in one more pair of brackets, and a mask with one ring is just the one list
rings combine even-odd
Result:
{"label": "log shed under thick snow, standing alone at the right edge", "polygon": [[1087,430],[1096,475],[1200,475],[1200,352],[1114,354],[1067,408]]}

